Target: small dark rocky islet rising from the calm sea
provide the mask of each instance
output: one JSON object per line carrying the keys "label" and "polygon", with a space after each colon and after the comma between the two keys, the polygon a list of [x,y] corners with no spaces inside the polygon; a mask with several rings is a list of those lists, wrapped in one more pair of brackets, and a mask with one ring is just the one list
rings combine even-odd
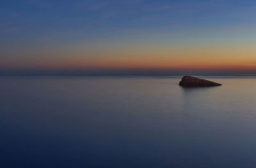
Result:
{"label": "small dark rocky islet rising from the calm sea", "polygon": [[221,86],[220,83],[215,83],[209,80],[202,80],[193,76],[184,76],[179,83],[182,87],[217,87]]}

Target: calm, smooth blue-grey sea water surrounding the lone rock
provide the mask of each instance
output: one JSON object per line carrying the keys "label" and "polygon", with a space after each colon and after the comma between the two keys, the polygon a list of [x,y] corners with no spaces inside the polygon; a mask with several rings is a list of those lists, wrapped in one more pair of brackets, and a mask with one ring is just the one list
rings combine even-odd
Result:
{"label": "calm, smooth blue-grey sea water surrounding the lone rock", "polygon": [[0,167],[255,167],[256,78],[0,77]]}

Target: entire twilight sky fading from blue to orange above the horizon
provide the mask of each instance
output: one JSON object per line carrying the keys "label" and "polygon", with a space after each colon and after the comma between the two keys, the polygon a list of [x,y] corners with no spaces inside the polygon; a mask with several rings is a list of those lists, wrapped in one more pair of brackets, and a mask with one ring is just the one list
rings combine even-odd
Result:
{"label": "entire twilight sky fading from blue to orange above the horizon", "polygon": [[0,75],[256,74],[256,1],[3,0]]}

